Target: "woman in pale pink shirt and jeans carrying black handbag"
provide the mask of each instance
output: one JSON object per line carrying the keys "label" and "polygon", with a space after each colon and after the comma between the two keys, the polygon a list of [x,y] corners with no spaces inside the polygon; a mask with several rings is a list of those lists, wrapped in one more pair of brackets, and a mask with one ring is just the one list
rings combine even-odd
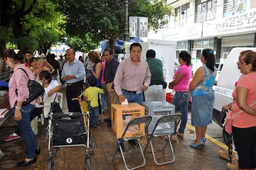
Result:
{"label": "woman in pale pink shirt and jeans carrying black handbag", "polygon": [[[22,105],[29,97],[28,77],[26,73],[31,80],[34,80],[34,76],[25,64],[22,64],[23,57],[17,56],[12,49],[6,51],[4,57],[7,65],[14,70],[9,81],[9,102],[14,112],[14,119],[18,122],[18,127],[25,140],[26,158],[17,164],[18,167],[24,167],[36,162],[36,152],[37,154],[40,153],[36,137],[30,126],[30,116],[34,110],[35,101],[27,105]],[[25,70],[26,73],[19,68]],[[18,94],[16,94],[16,89]]]}

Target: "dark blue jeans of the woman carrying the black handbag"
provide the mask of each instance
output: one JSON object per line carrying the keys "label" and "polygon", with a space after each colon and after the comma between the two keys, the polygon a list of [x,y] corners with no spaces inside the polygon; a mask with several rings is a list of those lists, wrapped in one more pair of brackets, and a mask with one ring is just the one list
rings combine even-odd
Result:
{"label": "dark blue jeans of the woman carrying the black handbag", "polygon": [[[15,113],[15,106],[12,108],[13,113]],[[35,155],[35,149],[38,147],[36,137],[30,126],[30,116],[34,111],[34,105],[27,104],[21,107],[22,120],[18,121],[18,127],[23,135],[25,145],[26,145],[26,158],[31,159]]]}

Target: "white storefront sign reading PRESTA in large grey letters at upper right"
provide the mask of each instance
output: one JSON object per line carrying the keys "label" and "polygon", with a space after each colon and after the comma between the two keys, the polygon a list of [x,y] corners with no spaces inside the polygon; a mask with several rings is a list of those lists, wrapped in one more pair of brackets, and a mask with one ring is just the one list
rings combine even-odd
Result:
{"label": "white storefront sign reading PRESTA in large grey letters at upper right", "polygon": [[203,37],[256,31],[256,8],[245,13],[203,23]]}

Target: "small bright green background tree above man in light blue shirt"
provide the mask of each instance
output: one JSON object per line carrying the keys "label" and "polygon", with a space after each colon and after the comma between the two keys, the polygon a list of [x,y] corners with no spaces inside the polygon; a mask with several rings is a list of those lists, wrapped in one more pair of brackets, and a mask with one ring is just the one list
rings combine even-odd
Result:
{"label": "small bright green background tree above man in light blue shirt", "polygon": [[84,34],[82,38],[78,36],[69,37],[66,44],[75,51],[81,51],[83,53],[88,53],[90,50],[99,46],[99,42],[93,41],[92,35],[89,33]]}

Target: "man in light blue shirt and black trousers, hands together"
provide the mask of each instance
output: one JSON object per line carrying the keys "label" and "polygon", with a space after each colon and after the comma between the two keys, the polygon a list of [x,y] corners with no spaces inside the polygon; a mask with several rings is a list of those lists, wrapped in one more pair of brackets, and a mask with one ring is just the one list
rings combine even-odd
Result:
{"label": "man in light blue shirt and black trousers, hands together", "polygon": [[85,68],[82,62],[76,59],[76,53],[74,49],[67,49],[66,62],[62,69],[61,78],[67,84],[67,103],[69,112],[81,112],[78,100],[72,100],[82,94],[83,80],[85,77]]}

